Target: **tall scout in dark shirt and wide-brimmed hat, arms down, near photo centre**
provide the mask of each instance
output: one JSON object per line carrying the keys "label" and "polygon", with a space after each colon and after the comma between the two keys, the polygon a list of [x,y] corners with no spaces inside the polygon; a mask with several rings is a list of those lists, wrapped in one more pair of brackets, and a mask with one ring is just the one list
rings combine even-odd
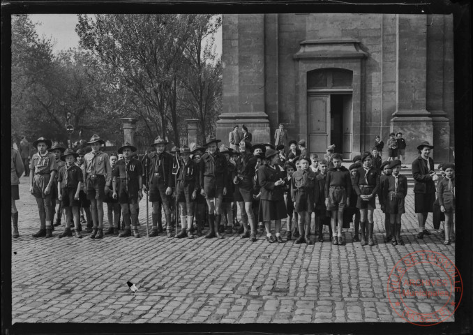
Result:
{"label": "tall scout in dark shirt and wide-brimmed hat, arms down, near photo centre", "polygon": [[220,207],[222,205],[223,195],[227,194],[227,158],[217,152],[216,137],[209,135],[205,142],[207,152],[200,159],[200,193],[205,196],[207,206],[209,207],[209,228],[210,231],[205,235],[206,239],[217,237],[223,239],[218,232],[222,214]]}

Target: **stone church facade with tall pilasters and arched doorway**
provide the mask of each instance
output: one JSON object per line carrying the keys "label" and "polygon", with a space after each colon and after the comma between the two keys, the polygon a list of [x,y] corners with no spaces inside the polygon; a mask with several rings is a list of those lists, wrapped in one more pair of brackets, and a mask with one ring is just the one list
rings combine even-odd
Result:
{"label": "stone church facade with tall pilasters and arched doorway", "polygon": [[274,143],[284,124],[309,152],[350,159],[392,131],[407,162],[423,141],[453,161],[451,15],[225,14],[222,61],[224,143],[236,124]]}

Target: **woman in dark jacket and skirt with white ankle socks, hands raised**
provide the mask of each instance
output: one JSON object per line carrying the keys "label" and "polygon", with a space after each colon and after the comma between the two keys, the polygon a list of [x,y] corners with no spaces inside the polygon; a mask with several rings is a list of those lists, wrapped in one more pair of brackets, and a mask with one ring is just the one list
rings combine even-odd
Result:
{"label": "woman in dark jacket and skirt with white ankle socks, hands raised", "polygon": [[[267,149],[266,164],[258,169],[258,181],[261,186],[259,221],[266,228],[266,239],[269,243],[276,240],[283,243],[280,237],[281,219],[287,218],[284,202],[285,171],[278,165],[278,151]],[[271,221],[276,225],[276,239],[271,234]]]}

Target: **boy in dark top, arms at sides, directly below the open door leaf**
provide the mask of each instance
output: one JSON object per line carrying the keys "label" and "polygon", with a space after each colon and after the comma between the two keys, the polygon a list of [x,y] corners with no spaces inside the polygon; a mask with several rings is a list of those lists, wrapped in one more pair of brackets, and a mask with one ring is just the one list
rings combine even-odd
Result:
{"label": "boy in dark top, arms at sides, directly below the open door leaf", "polygon": [[[350,194],[352,193],[352,179],[350,171],[342,166],[342,155],[331,156],[333,168],[329,169],[325,178],[325,205],[331,211],[332,244],[344,245],[342,237],[343,211],[350,206]],[[338,227],[338,232],[337,231]]]}

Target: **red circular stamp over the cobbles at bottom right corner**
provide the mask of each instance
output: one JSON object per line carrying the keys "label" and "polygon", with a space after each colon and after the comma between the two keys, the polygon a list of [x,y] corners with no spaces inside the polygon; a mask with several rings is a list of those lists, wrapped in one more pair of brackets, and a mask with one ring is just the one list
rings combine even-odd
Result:
{"label": "red circular stamp over the cobbles at bottom right corner", "polygon": [[452,318],[463,296],[463,281],[442,253],[414,251],[394,265],[387,293],[401,318],[413,325],[433,326]]}

